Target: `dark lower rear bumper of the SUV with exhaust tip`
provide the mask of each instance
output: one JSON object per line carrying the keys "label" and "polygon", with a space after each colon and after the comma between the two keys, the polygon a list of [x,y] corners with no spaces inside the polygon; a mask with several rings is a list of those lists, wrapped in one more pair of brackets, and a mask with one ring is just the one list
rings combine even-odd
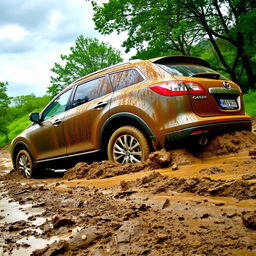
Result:
{"label": "dark lower rear bumper of the SUV with exhaust tip", "polygon": [[[210,138],[228,132],[251,131],[251,129],[251,120],[219,122],[193,126],[166,134],[164,139],[164,147],[168,149],[180,144],[187,145],[189,141],[198,140],[201,137]],[[196,133],[197,131],[201,132]]]}

